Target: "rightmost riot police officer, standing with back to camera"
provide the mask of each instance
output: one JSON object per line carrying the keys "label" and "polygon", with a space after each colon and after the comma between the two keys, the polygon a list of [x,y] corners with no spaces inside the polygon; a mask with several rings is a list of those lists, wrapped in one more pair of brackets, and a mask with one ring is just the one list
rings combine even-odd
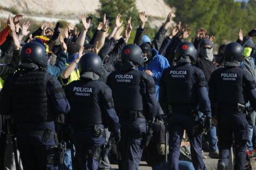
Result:
{"label": "rightmost riot police officer, standing with back to camera", "polygon": [[248,139],[245,103],[256,108],[256,84],[246,70],[239,68],[243,59],[242,46],[229,43],[224,49],[224,68],[215,70],[209,81],[209,96],[212,105],[218,108],[220,160],[218,169],[228,166],[229,149],[235,140],[234,169],[244,169]]}

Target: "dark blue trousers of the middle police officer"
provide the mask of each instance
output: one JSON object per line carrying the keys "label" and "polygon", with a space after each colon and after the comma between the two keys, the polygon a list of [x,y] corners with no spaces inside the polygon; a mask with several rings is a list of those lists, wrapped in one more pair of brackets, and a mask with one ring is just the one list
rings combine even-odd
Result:
{"label": "dark blue trousers of the middle police officer", "polygon": [[130,121],[120,118],[119,123],[121,124],[121,141],[118,147],[122,159],[122,167],[119,169],[138,169],[143,152],[142,137],[147,129],[146,119],[137,118],[135,121]]}

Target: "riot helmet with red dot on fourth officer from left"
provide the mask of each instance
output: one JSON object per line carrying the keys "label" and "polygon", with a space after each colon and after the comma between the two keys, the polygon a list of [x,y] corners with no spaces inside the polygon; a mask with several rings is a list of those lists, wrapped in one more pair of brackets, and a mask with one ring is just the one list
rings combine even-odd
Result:
{"label": "riot helmet with red dot on fourth officer from left", "polygon": [[175,50],[176,62],[191,62],[195,63],[197,60],[196,51],[193,44],[190,42],[181,42]]}

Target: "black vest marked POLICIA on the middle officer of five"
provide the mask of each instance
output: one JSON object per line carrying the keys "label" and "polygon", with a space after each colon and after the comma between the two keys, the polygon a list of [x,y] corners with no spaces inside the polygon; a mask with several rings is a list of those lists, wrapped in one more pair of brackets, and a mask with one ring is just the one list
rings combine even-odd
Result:
{"label": "black vest marked POLICIA on the middle officer of five", "polygon": [[138,70],[115,71],[108,78],[112,89],[114,108],[122,111],[143,110],[143,72]]}

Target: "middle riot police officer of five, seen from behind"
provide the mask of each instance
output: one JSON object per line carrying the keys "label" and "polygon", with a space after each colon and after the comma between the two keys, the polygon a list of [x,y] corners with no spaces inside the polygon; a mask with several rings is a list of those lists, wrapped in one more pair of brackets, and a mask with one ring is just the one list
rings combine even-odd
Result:
{"label": "middle riot police officer of five, seen from behind", "polygon": [[121,52],[122,68],[108,76],[107,84],[113,92],[114,107],[121,124],[121,163],[119,169],[138,169],[142,156],[142,139],[147,120],[156,115],[153,78],[137,70],[143,66],[142,50],[135,44],[124,46]]}

